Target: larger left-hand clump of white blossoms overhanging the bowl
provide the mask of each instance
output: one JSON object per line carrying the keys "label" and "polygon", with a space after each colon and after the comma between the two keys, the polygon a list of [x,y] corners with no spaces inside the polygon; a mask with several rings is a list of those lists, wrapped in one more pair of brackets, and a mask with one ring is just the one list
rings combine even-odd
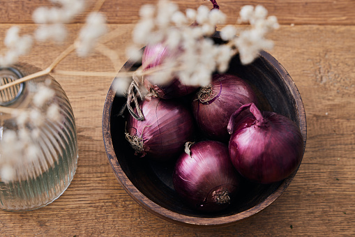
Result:
{"label": "larger left-hand clump of white blossoms overhanging the bowl", "polygon": [[[215,33],[216,24],[225,22],[226,16],[220,10],[200,6],[182,13],[175,3],[160,0],[157,7],[142,6],[139,15],[141,19],[133,31],[134,43],[162,43],[177,54],[176,58],[164,62],[164,70],[153,75],[154,83],[164,84],[177,76],[183,84],[206,86],[216,68],[227,69],[230,50],[205,37]],[[195,26],[191,26],[194,22]]]}

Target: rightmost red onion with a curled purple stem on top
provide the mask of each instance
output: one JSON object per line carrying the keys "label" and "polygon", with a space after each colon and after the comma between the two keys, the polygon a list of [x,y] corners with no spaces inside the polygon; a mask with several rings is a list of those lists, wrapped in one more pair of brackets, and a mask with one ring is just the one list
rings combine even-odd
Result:
{"label": "rightmost red onion with a curled purple stem on top", "polygon": [[[243,110],[251,114],[234,122]],[[303,137],[299,127],[285,116],[261,113],[251,103],[232,114],[229,124],[229,155],[239,173],[257,183],[273,183],[287,178],[299,167]]]}

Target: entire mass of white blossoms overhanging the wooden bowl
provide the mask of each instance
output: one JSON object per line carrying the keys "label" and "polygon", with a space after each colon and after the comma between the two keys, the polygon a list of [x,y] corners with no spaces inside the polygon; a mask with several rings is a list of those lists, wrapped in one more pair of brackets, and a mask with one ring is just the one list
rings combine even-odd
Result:
{"label": "entire mass of white blossoms overhanging the wooden bowl", "polygon": [[[266,40],[266,33],[276,29],[276,17],[267,17],[262,6],[241,8],[241,22],[250,23],[250,29],[239,29],[235,25],[222,28],[220,36],[229,43],[216,44],[211,36],[216,32],[217,24],[225,24],[226,16],[220,10],[210,10],[200,6],[197,10],[179,11],[178,6],[168,0],[158,1],[158,5],[144,5],[140,12],[140,21],[133,31],[136,45],[163,44],[171,52],[178,52],[172,59],[166,59],[161,70],[150,77],[155,84],[165,84],[178,77],[183,84],[206,86],[211,83],[214,71],[225,72],[229,60],[237,52],[241,63],[251,63],[262,49],[270,49],[273,44]],[[239,33],[239,37],[236,37]],[[136,47],[130,47],[128,56],[138,60]],[[175,53],[173,53],[175,54]]]}

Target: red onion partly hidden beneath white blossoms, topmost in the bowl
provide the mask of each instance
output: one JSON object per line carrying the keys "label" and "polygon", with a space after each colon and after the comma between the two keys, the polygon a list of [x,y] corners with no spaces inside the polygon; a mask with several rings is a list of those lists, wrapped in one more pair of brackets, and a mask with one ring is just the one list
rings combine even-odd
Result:
{"label": "red onion partly hidden beneath white blossoms, topmost in the bowl", "polygon": [[[163,44],[147,45],[143,52],[142,67],[143,70],[155,68],[161,65],[165,60],[176,57],[179,52],[172,52]],[[151,76],[144,76],[144,87],[147,91],[153,91],[158,98],[172,99],[188,95],[196,91],[195,86],[186,86],[182,84],[178,78],[172,79],[169,84],[156,85],[151,81]]]}

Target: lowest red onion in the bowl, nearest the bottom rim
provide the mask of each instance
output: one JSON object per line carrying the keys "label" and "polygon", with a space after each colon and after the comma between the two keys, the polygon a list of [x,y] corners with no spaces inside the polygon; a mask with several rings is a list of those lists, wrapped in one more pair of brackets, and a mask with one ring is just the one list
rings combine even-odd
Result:
{"label": "lowest red onion in the bowl, nearest the bottom rim", "polygon": [[190,147],[190,155],[183,153],[176,162],[173,174],[176,192],[188,206],[199,211],[227,208],[240,186],[240,176],[229,159],[227,145],[198,142]]}

